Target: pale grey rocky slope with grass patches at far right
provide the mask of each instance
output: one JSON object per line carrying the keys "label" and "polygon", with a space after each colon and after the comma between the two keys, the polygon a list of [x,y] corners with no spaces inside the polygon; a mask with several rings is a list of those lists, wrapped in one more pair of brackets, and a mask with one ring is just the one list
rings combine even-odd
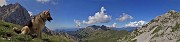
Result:
{"label": "pale grey rocky slope with grass patches at far right", "polygon": [[145,26],[132,32],[131,40],[137,42],[177,42],[180,41],[180,12],[170,10],[157,16]]}

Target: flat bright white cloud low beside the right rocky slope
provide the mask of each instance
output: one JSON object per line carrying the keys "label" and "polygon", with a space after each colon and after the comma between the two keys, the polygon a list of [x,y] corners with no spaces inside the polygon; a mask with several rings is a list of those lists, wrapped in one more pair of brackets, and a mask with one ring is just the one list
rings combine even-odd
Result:
{"label": "flat bright white cloud low beside the right rocky slope", "polygon": [[130,22],[129,24],[126,24],[125,27],[141,27],[145,24],[147,24],[147,22],[140,20],[140,21]]}

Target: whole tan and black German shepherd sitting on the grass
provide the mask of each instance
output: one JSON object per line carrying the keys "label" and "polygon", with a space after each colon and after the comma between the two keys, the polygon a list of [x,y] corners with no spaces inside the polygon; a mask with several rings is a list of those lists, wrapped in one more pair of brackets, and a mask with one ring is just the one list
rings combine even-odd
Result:
{"label": "whole tan and black German shepherd sitting on the grass", "polygon": [[21,34],[30,34],[30,35],[37,35],[38,38],[41,38],[42,29],[45,27],[46,21],[53,20],[51,18],[51,14],[48,11],[43,11],[32,18],[25,26],[20,30],[14,28],[15,32],[21,32]]}

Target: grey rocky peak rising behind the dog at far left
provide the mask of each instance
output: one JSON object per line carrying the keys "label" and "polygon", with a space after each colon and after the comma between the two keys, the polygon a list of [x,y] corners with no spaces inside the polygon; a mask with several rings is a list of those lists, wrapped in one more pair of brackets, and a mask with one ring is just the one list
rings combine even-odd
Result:
{"label": "grey rocky peak rising behind the dog at far left", "polygon": [[0,7],[0,20],[18,25],[24,25],[30,20],[28,11],[19,3]]}

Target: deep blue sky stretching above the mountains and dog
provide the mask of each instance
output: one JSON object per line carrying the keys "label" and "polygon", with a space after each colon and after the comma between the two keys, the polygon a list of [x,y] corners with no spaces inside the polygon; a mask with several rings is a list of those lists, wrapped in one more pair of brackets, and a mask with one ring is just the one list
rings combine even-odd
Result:
{"label": "deep blue sky stretching above the mountains and dog", "polygon": [[[115,27],[124,27],[136,26],[137,23],[141,26],[169,10],[180,11],[180,0],[6,0],[6,2],[8,4],[19,2],[33,15],[50,9],[54,20],[46,22],[46,26],[52,29],[75,28],[78,27],[77,24],[80,27],[94,24],[106,26],[114,24]],[[100,12],[102,7],[105,12],[99,13],[102,18],[100,15],[98,19],[107,21],[88,19],[89,16],[95,16],[95,13]],[[103,18],[105,15],[107,17]],[[95,22],[87,24],[83,21]]]}

